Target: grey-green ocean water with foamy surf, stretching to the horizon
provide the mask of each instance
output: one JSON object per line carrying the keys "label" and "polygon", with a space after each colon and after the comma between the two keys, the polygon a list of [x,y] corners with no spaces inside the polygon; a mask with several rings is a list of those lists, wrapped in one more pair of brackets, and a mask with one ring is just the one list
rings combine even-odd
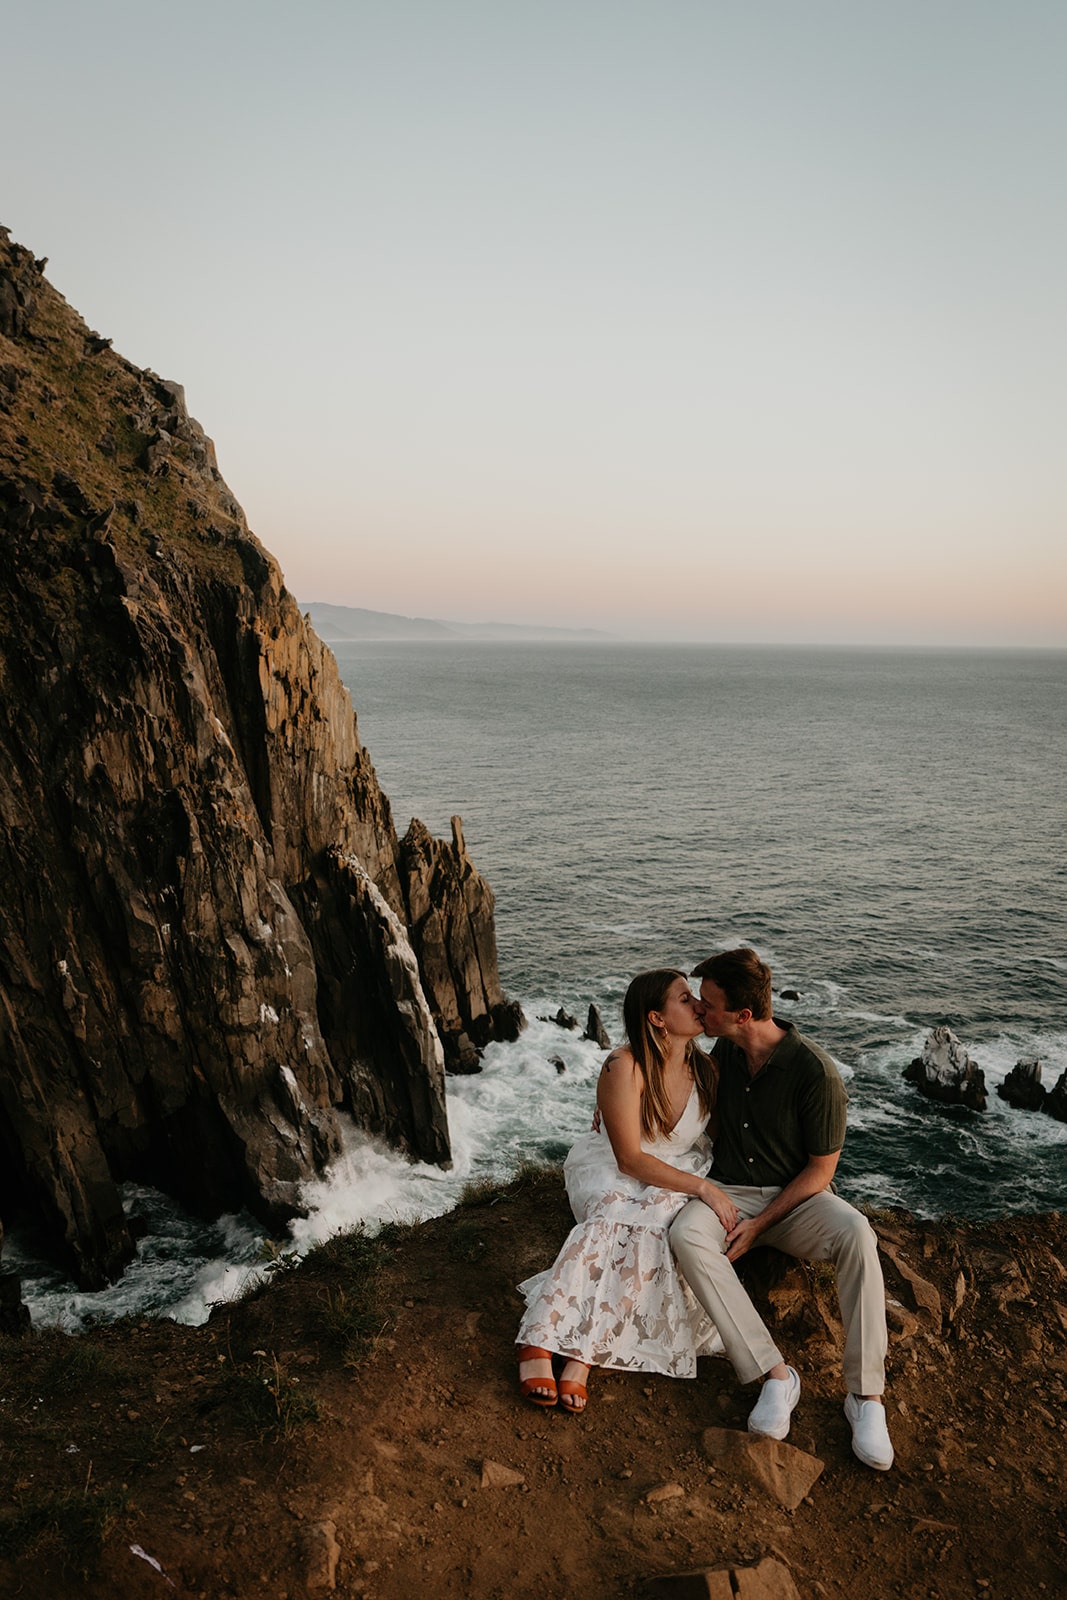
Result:
{"label": "grey-green ocean water with foamy surf, stretching to the horizon", "polygon": [[[592,1002],[617,1038],[635,971],[739,942],[798,992],[779,1014],[841,1066],[848,1198],[923,1216],[1064,1206],[1067,1125],[995,1085],[1022,1058],[1048,1086],[1067,1069],[1065,653],[334,648],[398,830],[419,816],[446,835],[462,814],[531,1026],[478,1077],[450,1078],[451,1173],[352,1133],[291,1248],[560,1158],[589,1125],[601,1053],[539,1018],[563,1005],[584,1021]],[[985,1070],[984,1115],[901,1078],[942,1022]],[[5,1246],[38,1317],[144,1306],[195,1322],[246,1277],[250,1218],[205,1230],[150,1190],[128,1205],[149,1234],[102,1296],[32,1242]]]}

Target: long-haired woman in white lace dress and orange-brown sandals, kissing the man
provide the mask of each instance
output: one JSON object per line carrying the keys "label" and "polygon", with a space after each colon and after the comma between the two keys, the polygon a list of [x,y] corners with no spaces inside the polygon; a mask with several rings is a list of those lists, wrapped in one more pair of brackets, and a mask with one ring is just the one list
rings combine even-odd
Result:
{"label": "long-haired woman in white lace dress and orange-brown sandals, kissing the man", "polygon": [[[694,1378],[721,1350],[713,1323],[680,1277],[667,1238],[694,1197],[726,1229],[737,1213],[702,1174],[710,1165],[715,1062],[694,1045],[699,1000],[685,973],[640,973],[622,1003],[627,1043],[600,1070],[600,1128],[568,1155],[563,1176],[577,1226],[549,1272],[520,1283],[518,1379],[534,1405],[585,1408],[590,1366]],[[565,1365],[557,1382],[552,1357]]]}

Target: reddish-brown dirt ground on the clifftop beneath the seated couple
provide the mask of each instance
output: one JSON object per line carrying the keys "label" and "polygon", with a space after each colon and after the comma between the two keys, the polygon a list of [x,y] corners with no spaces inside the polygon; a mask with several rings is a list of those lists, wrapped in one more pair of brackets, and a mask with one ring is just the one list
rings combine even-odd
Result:
{"label": "reddish-brown dirt ground on the clifftop beneath the seated couple", "polygon": [[[822,1462],[793,1510],[705,1454],[753,1398],[723,1360],[595,1373],[582,1418],[523,1403],[514,1285],[569,1224],[558,1174],[525,1174],[203,1328],[5,1339],[0,1595],[614,1600],[769,1555],[803,1600],[1062,1600],[1067,1226],[873,1221],[891,1472],[849,1450],[832,1274],[769,1251],[752,1291],[803,1379],[790,1445]],[[522,1482],[482,1486],[486,1461]]]}

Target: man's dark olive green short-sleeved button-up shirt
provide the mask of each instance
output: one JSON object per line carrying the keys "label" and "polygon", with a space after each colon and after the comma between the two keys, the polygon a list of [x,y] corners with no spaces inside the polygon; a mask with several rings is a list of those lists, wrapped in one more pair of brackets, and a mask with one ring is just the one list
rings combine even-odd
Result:
{"label": "man's dark olive green short-sleeved button-up shirt", "polygon": [[848,1094],[827,1056],[793,1022],[752,1077],[745,1053],[715,1042],[718,1133],[709,1176],[720,1184],[784,1189],[809,1155],[832,1155],[845,1142]]}

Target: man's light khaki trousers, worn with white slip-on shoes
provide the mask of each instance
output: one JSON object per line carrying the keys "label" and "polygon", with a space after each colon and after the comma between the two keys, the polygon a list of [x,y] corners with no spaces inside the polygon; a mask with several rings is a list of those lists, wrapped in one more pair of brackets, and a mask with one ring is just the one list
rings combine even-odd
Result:
{"label": "man's light khaki trousers, worn with white slip-on shoes", "polygon": [[[758,1216],[779,1189],[742,1189],[723,1184],[742,1216]],[[832,1261],[845,1323],[845,1384],[854,1395],[885,1389],[886,1302],[878,1240],[862,1213],[824,1189],[760,1234],[789,1256]],[[681,1272],[721,1334],[726,1355],[742,1384],[761,1378],[782,1360],[777,1346],[726,1261],[726,1230],[710,1206],[689,1200],[670,1229],[670,1248]]]}

